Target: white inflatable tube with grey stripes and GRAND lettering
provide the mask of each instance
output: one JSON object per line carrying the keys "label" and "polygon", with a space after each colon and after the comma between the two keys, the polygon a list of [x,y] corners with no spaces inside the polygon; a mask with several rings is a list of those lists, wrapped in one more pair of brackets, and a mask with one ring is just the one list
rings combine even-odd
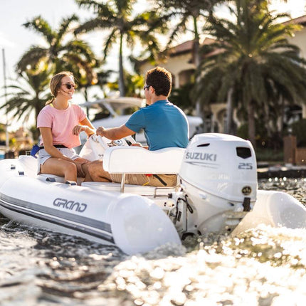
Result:
{"label": "white inflatable tube with grey stripes and GRAND lettering", "polygon": [[128,255],[181,244],[166,213],[137,195],[14,176],[0,188],[0,212],[19,223],[116,245]]}

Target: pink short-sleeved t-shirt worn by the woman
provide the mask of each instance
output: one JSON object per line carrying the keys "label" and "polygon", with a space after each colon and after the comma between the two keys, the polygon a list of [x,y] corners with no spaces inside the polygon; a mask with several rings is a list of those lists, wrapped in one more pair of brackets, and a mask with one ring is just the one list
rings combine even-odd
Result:
{"label": "pink short-sleeved t-shirt worn by the woman", "polygon": [[[80,145],[80,137],[73,134],[73,127],[80,124],[86,117],[80,106],[70,104],[65,110],[46,105],[39,112],[37,127],[51,127],[53,144],[63,144],[65,147],[73,148]],[[41,139],[41,146],[43,139]]]}

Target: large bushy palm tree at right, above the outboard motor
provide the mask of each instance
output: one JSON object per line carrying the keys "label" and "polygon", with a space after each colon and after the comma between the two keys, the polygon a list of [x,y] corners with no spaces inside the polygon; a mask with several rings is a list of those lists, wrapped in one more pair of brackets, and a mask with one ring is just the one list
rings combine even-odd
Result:
{"label": "large bushy palm tree at right, above the outboard motor", "polygon": [[286,15],[272,16],[267,1],[260,1],[260,6],[254,1],[236,0],[234,21],[211,17],[204,30],[216,41],[204,48],[196,97],[203,102],[211,101],[216,92],[218,101],[227,97],[228,122],[233,106],[238,107],[247,118],[248,137],[255,146],[255,117],[268,115],[271,107],[275,112],[279,105],[273,97],[280,87],[279,95],[306,99],[306,62],[298,56],[299,48],[287,41],[297,26],[280,23]]}

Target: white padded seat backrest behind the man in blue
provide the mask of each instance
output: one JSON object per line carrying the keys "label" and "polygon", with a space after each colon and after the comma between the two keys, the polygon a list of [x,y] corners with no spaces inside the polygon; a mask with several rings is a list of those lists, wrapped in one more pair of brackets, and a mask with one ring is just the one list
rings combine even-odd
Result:
{"label": "white padded seat backrest behind the man in blue", "polygon": [[142,147],[110,147],[103,168],[117,174],[178,174],[186,149],[173,147],[149,151]]}

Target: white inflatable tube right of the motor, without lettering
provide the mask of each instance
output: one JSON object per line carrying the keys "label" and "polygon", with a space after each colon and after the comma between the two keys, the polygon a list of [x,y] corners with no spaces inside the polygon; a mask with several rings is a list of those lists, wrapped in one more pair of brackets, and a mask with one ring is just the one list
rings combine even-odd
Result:
{"label": "white inflatable tube right of the motor, without lettering", "polygon": [[306,209],[297,199],[280,191],[257,191],[257,200],[233,231],[236,235],[259,224],[273,227],[306,228]]}

